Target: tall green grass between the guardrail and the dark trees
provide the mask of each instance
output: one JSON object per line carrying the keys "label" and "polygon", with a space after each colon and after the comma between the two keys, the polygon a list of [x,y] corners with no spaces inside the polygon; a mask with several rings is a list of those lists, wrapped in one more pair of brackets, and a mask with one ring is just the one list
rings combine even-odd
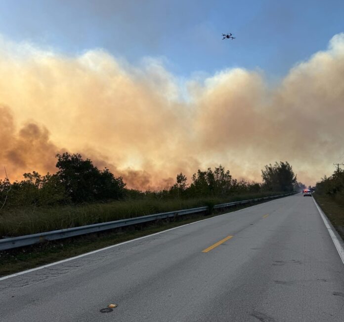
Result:
{"label": "tall green grass between the guardrail and the dark trees", "polygon": [[0,237],[14,237],[78,227],[124,218],[254,199],[279,193],[256,193],[228,198],[126,200],[79,206],[15,208],[0,213]]}

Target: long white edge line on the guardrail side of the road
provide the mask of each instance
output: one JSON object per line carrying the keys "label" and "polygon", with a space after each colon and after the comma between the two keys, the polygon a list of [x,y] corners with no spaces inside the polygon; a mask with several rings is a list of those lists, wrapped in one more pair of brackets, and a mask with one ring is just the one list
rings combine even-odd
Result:
{"label": "long white edge line on the guardrail side of the road", "polygon": [[[287,197],[290,197],[290,196],[287,196]],[[285,198],[287,198],[287,197],[285,197]],[[272,202],[272,201],[279,200],[279,199],[281,199],[281,198],[273,199],[273,200],[268,200],[268,201],[265,202],[265,204],[267,204],[268,202]],[[110,248],[118,247],[118,246],[121,246],[121,245],[124,245],[124,244],[128,244],[128,243],[131,243],[131,242],[135,242],[135,241],[137,241],[137,240],[141,240],[141,239],[144,239],[144,238],[147,238],[147,237],[151,237],[151,236],[159,235],[159,234],[162,234],[162,233],[166,233],[167,231],[171,231],[171,230],[173,230],[173,229],[182,228],[182,227],[185,227],[185,226],[188,226],[188,225],[192,225],[192,224],[195,224],[195,223],[198,223],[198,222],[201,222],[201,221],[213,219],[213,218],[215,218],[215,217],[220,217],[220,216],[223,216],[223,215],[228,215],[228,214],[233,214],[233,213],[236,213],[236,212],[240,212],[240,211],[242,211],[242,210],[246,210],[246,209],[248,209],[248,208],[256,207],[256,206],[259,206],[259,205],[260,205],[260,204],[258,204],[258,205],[253,205],[253,206],[249,206],[249,207],[245,207],[245,208],[243,208],[243,209],[239,209],[239,210],[236,210],[236,211],[234,211],[234,212],[229,212],[229,213],[225,213],[225,214],[222,214],[222,215],[217,215],[217,216],[215,215],[215,216],[212,216],[212,217],[210,217],[210,218],[206,218],[206,219],[202,219],[202,220],[197,220],[197,221],[194,221],[194,222],[187,223],[187,224],[185,224],[185,225],[181,225],[181,226],[178,226],[178,227],[173,227],[173,228],[170,228],[170,229],[166,229],[166,230],[159,231],[159,232],[154,233],[154,234],[150,234],[150,235],[147,235],[147,236],[142,236],[142,237],[138,237],[138,238],[135,238],[135,239],[131,239],[131,240],[126,241],[126,242],[123,242],[123,243],[119,243],[119,244],[111,245],[111,246],[108,246],[108,247],[104,247],[104,248],[101,248],[101,249],[99,249],[99,250],[92,250],[92,251],[86,252],[86,253],[81,254],[81,255],[78,255],[78,256],[69,257],[69,258],[66,258],[66,259],[59,260],[59,261],[57,261],[57,262],[53,262],[53,263],[46,264],[46,265],[43,265],[43,266],[31,268],[31,269],[28,269],[28,270],[26,270],[26,271],[22,271],[22,272],[19,272],[19,273],[15,273],[15,274],[3,276],[3,277],[0,277],[0,281],[7,280],[7,279],[10,279],[10,278],[12,278],[12,277],[19,276],[19,275],[23,275],[23,274],[26,274],[26,273],[38,271],[39,269],[46,268],[46,267],[49,267],[49,266],[53,266],[53,265],[65,263],[65,262],[68,262],[68,261],[70,261],[70,260],[77,259],[77,258],[81,258],[81,257],[87,256],[87,255],[91,255],[91,254],[94,254],[94,253],[99,252],[99,251],[109,250]]]}

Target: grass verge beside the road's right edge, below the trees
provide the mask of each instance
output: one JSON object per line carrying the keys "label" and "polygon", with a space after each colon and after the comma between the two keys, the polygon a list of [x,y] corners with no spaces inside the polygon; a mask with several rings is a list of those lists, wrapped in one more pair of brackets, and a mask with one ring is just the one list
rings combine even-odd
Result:
{"label": "grass verge beside the road's right edge, below the trees", "polygon": [[344,240],[344,200],[316,194],[313,197]]}

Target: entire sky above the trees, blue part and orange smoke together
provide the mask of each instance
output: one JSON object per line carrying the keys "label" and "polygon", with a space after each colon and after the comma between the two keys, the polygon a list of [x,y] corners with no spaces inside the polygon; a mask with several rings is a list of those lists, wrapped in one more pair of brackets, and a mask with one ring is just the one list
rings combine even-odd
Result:
{"label": "entire sky above the trees, blue part and orange smoke together", "polygon": [[314,183],[344,153],[343,17],[343,0],[0,0],[0,163],[51,172],[63,147],[147,188],[288,160]]}

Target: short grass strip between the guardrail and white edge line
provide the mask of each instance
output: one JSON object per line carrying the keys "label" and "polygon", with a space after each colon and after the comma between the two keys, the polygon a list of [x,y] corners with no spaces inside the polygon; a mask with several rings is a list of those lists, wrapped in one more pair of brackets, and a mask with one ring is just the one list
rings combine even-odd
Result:
{"label": "short grass strip between the guardrail and white edge line", "polygon": [[98,234],[88,234],[59,241],[44,242],[14,250],[0,251],[0,276],[17,273],[65,258],[77,256],[88,251],[101,249],[103,247],[150,235],[190,222],[210,218],[215,215],[233,212],[249,206],[250,205],[233,207],[225,212],[214,212],[212,215],[207,216],[189,215],[183,218],[176,218],[175,221],[172,222],[161,220],[153,224],[137,225],[136,227],[127,227],[125,229],[114,229]]}

